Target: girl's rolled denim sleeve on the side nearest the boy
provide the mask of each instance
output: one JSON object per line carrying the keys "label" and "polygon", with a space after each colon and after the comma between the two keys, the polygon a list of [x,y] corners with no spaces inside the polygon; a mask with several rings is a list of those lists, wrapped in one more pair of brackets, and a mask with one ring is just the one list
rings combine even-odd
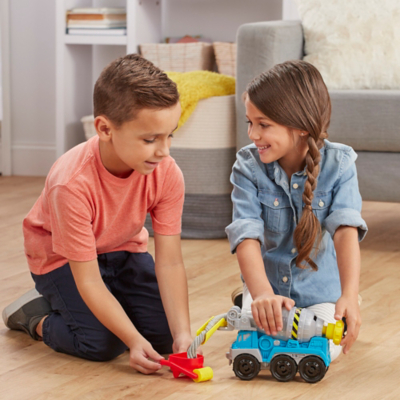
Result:
{"label": "girl's rolled denim sleeve on the side nearest the boy", "polygon": [[258,200],[258,189],[251,165],[251,155],[239,151],[231,174],[233,215],[232,223],[225,229],[231,252],[245,239],[258,240],[264,244],[264,221]]}

